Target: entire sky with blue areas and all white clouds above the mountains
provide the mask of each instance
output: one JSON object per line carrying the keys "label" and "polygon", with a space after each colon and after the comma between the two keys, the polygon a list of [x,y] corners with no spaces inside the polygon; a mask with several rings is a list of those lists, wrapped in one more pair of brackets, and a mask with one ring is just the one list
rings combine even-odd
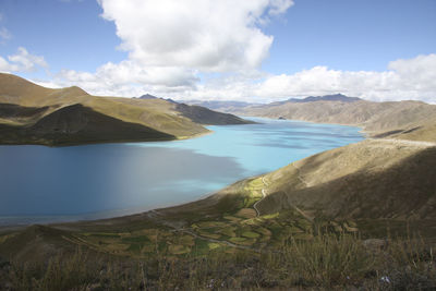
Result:
{"label": "entire sky with blue areas and all white clouds above the mountains", "polygon": [[436,104],[435,0],[1,0],[0,72],[94,95]]}

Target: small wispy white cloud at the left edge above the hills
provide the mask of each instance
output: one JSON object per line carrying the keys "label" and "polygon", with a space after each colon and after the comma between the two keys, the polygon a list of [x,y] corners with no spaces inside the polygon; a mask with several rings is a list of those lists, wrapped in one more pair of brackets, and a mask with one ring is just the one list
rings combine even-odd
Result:
{"label": "small wispy white cloud at the left edge above the hills", "polygon": [[48,68],[44,57],[32,54],[23,47],[19,47],[17,52],[9,56],[8,60],[0,57],[0,71],[8,73],[35,72],[39,68]]}

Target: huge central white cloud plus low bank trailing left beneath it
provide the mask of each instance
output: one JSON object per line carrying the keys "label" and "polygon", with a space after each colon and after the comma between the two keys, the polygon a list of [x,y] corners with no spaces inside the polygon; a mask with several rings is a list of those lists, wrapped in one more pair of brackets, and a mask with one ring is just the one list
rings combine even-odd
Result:
{"label": "huge central white cloud plus low bank trailing left beneath it", "polygon": [[129,51],[129,59],[108,62],[95,72],[62,70],[49,84],[77,85],[96,95],[131,97],[153,92],[185,96],[203,87],[199,75],[204,72],[237,71],[245,78],[253,77],[272,43],[272,36],[265,35],[259,26],[284,13],[293,3],[292,0],[98,2],[104,9],[102,17],[114,22],[121,48]]}

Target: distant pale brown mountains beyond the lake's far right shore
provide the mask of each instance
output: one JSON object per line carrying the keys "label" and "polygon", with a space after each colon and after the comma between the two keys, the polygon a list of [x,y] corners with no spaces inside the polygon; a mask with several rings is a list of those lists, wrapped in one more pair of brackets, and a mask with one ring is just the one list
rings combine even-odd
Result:
{"label": "distant pale brown mountains beyond the lake's far right shore", "polygon": [[417,126],[415,125],[417,123],[428,123],[429,120],[436,119],[436,106],[421,101],[372,102],[355,99],[343,101],[343,98],[334,100],[335,98],[326,96],[326,98],[306,98],[307,101],[291,99],[249,106],[228,112],[240,116],[356,125],[363,128],[370,135],[388,131],[407,131]]}

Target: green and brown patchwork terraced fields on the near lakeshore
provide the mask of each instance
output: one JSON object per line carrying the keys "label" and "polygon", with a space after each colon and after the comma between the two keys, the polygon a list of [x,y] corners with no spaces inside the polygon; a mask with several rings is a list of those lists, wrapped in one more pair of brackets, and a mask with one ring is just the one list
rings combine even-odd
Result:
{"label": "green and brown patchwork terraced fields on the near lakeshore", "polygon": [[[353,221],[314,222],[296,210],[258,216],[253,205],[263,198],[264,187],[266,185],[262,177],[250,180],[243,186],[240,207],[222,213],[218,218],[204,217],[183,227],[155,219],[156,225],[129,231],[76,232],[69,241],[111,255],[145,258],[159,254],[206,255],[211,250],[228,253],[235,248],[262,252],[267,248],[277,250],[290,240],[312,240],[319,231],[338,234],[358,231]],[[158,210],[150,214],[152,217],[161,216]]]}

